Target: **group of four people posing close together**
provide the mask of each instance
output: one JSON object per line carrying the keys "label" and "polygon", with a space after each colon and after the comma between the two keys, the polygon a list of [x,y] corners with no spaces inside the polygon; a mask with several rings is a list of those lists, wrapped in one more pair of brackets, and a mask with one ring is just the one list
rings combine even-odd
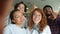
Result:
{"label": "group of four people posing close together", "polygon": [[14,10],[10,13],[11,24],[7,25],[3,34],[59,34],[59,24],[53,14],[53,8],[50,5],[44,6],[43,10],[35,8],[29,20],[24,16],[26,5],[23,2],[17,3]]}

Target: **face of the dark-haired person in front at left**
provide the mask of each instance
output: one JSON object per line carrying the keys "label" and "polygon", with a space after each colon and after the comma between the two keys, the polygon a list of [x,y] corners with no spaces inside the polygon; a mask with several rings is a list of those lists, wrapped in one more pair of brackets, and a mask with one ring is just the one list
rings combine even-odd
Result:
{"label": "face of the dark-haired person in front at left", "polygon": [[19,11],[16,11],[14,14],[13,14],[13,21],[16,23],[16,24],[23,24],[25,19],[24,19],[24,16],[21,12]]}

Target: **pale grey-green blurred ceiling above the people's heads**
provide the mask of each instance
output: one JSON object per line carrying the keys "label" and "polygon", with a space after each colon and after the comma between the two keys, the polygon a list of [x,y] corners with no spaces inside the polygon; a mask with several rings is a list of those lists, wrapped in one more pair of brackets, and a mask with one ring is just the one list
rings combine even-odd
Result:
{"label": "pale grey-green blurred ceiling above the people's heads", "polygon": [[43,9],[45,5],[51,5],[55,12],[58,12],[60,10],[60,0],[15,0],[14,4],[20,1],[23,1],[25,4],[34,4],[41,9]]}

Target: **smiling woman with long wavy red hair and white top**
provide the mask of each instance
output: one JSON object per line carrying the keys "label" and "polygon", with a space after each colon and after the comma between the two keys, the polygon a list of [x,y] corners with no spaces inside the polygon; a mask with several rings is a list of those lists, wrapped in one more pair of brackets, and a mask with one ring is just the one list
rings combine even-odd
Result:
{"label": "smiling woman with long wavy red hair and white top", "polygon": [[51,34],[43,11],[36,8],[32,11],[27,27],[28,34]]}

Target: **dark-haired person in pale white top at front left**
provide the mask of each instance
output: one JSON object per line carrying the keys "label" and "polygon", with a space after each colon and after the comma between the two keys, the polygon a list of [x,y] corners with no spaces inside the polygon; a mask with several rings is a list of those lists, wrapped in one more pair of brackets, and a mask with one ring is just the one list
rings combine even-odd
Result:
{"label": "dark-haired person in pale white top at front left", "polygon": [[4,28],[3,34],[26,34],[26,30],[23,27],[25,17],[19,10],[13,10],[10,13],[10,19],[12,24]]}

